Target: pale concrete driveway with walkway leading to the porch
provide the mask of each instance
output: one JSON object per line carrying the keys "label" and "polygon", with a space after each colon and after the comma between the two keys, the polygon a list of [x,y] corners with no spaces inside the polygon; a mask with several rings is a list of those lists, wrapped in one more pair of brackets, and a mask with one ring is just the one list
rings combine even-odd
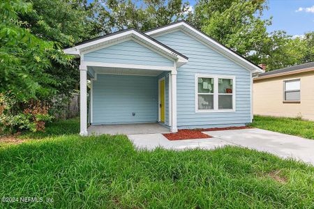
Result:
{"label": "pale concrete driveway with walkway leading to the porch", "polygon": [[163,134],[128,135],[138,148],[153,150],[160,146],[167,149],[182,150],[188,148],[214,149],[232,145],[253,148],[279,157],[292,157],[314,165],[314,140],[294,137],[287,134],[261,130],[224,130],[204,132],[214,138],[169,141]]}

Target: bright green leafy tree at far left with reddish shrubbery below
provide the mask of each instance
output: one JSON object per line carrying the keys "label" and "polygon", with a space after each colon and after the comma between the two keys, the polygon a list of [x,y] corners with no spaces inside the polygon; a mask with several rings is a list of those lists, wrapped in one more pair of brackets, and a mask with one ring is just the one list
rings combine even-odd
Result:
{"label": "bright green leafy tree at far left with reddish shrubbery below", "polygon": [[[52,62],[66,65],[71,57],[56,42],[43,40],[25,29],[18,15],[32,13],[31,3],[0,3],[0,126],[43,130],[51,116],[46,104],[33,102],[56,95],[60,83],[47,72]],[[28,108],[29,107],[29,108]]]}

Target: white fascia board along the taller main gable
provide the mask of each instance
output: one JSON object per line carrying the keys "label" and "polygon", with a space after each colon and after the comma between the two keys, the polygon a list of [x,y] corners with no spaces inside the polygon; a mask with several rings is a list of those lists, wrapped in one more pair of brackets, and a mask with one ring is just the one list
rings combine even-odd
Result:
{"label": "white fascia board along the taller main gable", "polygon": [[[243,57],[239,56],[238,54],[232,52],[230,49],[227,49],[227,47],[224,47],[223,45],[220,45],[218,42],[215,40],[209,38],[208,36],[204,35],[204,33],[198,31],[197,29],[194,29],[192,26],[186,24],[186,22],[178,22],[177,24],[170,24],[169,26],[162,27],[160,29],[156,29],[153,31],[148,31],[146,34],[149,36],[160,36],[160,34],[167,33],[168,31],[172,31],[174,29],[183,29],[184,31],[193,33],[197,36],[200,36],[202,39],[206,40],[207,43],[211,46],[214,47],[214,49],[217,49],[218,52],[221,52],[225,54],[226,56],[232,56],[234,57],[234,61],[238,61],[243,63],[242,65],[246,65],[246,68],[248,70],[251,70],[252,72],[263,72],[262,69],[258,68],[255,66],[253,63],[247,61]],[[187,29],[187,30],[186,30]],[[195,36],[195,38],[197,38]],[[231,59],[231,58],[230,58]]]}

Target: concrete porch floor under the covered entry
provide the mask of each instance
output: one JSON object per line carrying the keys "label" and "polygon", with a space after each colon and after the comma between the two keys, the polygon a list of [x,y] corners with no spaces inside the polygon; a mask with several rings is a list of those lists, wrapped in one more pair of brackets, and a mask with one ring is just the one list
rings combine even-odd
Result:
{"label": "concrete porch floor under the covered entry", "polygon": [[159,123],[132,123],[117,125],[90,125],[90,134],[155,134],[169,133],[170,130]]}

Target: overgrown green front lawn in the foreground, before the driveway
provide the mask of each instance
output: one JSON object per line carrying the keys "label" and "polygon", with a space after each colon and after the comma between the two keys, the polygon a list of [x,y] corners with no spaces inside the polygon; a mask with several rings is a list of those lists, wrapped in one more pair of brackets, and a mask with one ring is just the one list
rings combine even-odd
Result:
{"label": "overgrown green front lawn in the foreground, before the driveway", "polygon": [[[77,120],[0,148],[3,208],[313,208],[314,167],[245,148],[137,151],[125,136],[80,137]],[[66,132],[66,134],[63,134]],[[2,204],[2,205],[1,205]],[[1,208],[1,207],[0,207]]]}

